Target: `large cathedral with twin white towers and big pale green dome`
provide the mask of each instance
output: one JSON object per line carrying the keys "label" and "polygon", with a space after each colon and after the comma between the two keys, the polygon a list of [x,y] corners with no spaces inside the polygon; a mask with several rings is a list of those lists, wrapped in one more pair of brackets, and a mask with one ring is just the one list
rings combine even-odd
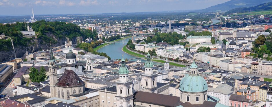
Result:
{"label": "large cathedral with twin white towers and big pale green dome", "polygon": [[[141,75],[141,86],[144,86],[144,89],[133,91],[135,90],[133,87],[133,80],[129,79],[128,68],[126,67],[124,58],[122,59],[122,66],[118,71],[119,81],[115,82],[116,87],[113,86],[102,89],[103,92],[111,91],[116,93],[116,96],[113,95],[113,98],[111,98],[111,101],[114,102],[114,97],[116,97],[116,105],[114,102],[113,106],[227,107],[218,103],[220,101],[218,98],[207,95],[207,82],[199,75],[197,70],[198,67],[195,62],[190,66],[190,73],[186,75],[179,84],[179,97],[157,93],[157,74],[153,72],[153,63],[150,60],[149,53],[144,67],[144,74]],[[109,93],[106,95],[109,95]],[[103,93],[100,94],[100,101],[104,102],[104,98],[102,96],[104,96]],[[106,101],[108,104],[111,104],[111,101]],[[111,106],[108,104],[106,106]],[[104,103],[101,103],[100,106],[105,105]]]}

